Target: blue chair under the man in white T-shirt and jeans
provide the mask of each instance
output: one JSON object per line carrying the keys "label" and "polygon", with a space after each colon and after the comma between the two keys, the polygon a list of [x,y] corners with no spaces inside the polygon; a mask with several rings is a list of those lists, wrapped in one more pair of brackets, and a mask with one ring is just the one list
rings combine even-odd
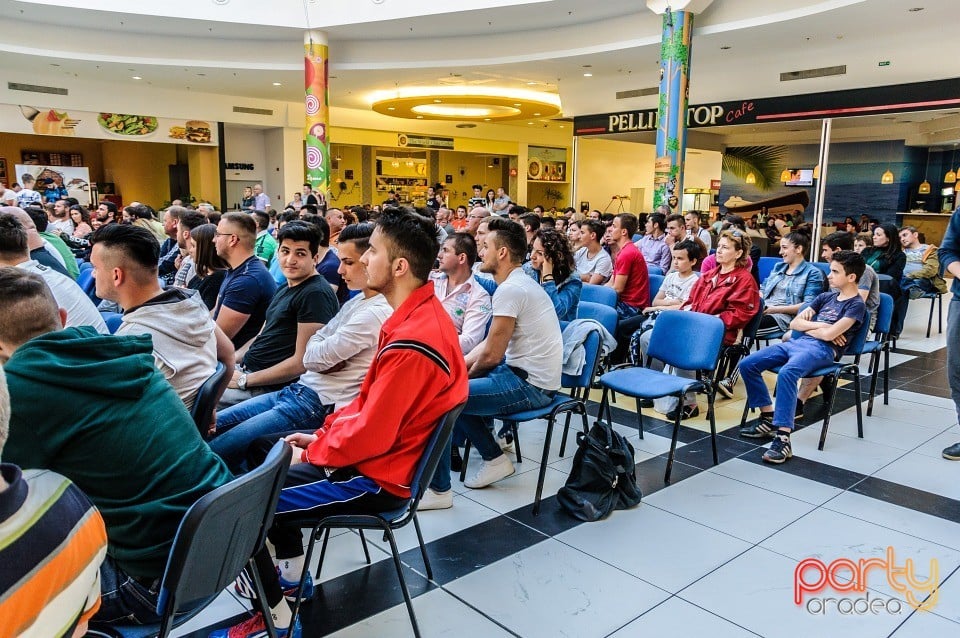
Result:
{"label": "blue chair under the man in white T-shirt and jeans", "polygon": [[[581,307],[583,303],[581,302]],[[614,311],[616,312],[616,311]],[[550,440],[553,438],[553,426],[557,417],[566,414],[566,421],[563,426],[563,439],[560,442],[560,453],[567,443],[567,432],[570,428],[570,417],[573,414],[579,414],[582,421],[583,432],[588,432],[587,426],[587,406],[586,397],[590,393],[590,385],[593,383],[593,377],[597,371],[597,364],[600,362],[600,339],[599,330],[591,330],[587,335],[583,347],[586,350],[586,359],[583,365],[583,371],[579,375],[563,374],[560,379],[560,387],[569,390],[570,394],[558,392],[553,400],[542,408],[535,410],[525,410],[523,412],[514,412],[513,414],[498,417],[510,425],[513,431],[514,444],[517,446],[517,455],[520,454],[520,437],[517,424],[524,421],[533,421],[534,419],[547,419],[547,433],[543,439],[543,455],[540,459],[540,474],[537,477],[537,494],[533,500],[533,515],[540,514],[540,496],[543,493],[543,481],[547,474],[547,457],[550,454]],[[460,470],[460,481],[463,482],[467,477],[467,462],[470,458],[470,440],[463,450],[463,465]]]}

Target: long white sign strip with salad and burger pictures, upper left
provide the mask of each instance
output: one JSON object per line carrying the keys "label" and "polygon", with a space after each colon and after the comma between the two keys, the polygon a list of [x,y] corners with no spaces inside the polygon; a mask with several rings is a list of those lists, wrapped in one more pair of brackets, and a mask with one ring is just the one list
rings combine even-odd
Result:
{"label": "long white sign strip with salad and burger pictures, upper left", "polygon": [[216,146],[217,123],[134,113],[61,110],[41,104],[0,105],[0,131]]}

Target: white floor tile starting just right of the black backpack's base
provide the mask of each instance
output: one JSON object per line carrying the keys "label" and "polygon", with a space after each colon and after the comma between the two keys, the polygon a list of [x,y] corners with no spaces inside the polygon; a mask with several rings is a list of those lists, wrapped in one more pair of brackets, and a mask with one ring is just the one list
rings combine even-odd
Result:
{"label": "white floor tile starting just right of the black backpack's base", "polygon": [[646,502],[754,543],[813,509],[809,503],[710,472],[664,488]]}

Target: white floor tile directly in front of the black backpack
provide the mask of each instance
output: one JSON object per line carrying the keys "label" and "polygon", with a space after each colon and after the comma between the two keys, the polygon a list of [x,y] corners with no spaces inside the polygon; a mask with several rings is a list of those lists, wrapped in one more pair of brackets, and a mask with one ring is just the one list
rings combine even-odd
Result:
{"label": "white floor tile directly in front of the black backpack", "polygon": [[556,538],[670,592],[751,547],[649,503]]}

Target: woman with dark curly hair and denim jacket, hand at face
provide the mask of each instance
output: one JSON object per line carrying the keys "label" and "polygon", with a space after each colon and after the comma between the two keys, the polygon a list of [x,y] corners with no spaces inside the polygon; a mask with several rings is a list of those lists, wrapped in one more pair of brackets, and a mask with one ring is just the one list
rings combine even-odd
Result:
{"label": "woman with dark curly hair and denim jacket, hand at face", "polygon": [[567,239],[552,228],[541,228],[533,236],[532,246],[528,273],[543,286],[560,321],[573,321],[583,282],[574,270]]}

